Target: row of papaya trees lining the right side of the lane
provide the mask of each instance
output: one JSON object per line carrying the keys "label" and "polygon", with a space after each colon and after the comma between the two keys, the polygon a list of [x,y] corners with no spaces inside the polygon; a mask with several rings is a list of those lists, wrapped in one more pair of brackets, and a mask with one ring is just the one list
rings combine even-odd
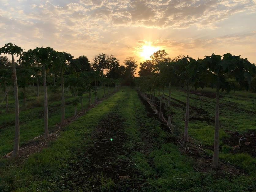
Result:
{"label": "row of papaya trees lining the right side of the lane", "polygon": [[218,167],[219,161],[219,129],[220,129],[220,90],[230,92],[235,89],[246,89],[255,79],[256,66],[250,63],[247,58],[232,55],[205,56],[204,59],[194,59],[189,56],[178,56],[176,58],[166,58],[164,50],[157,51],[151,56],[150,61],[141,63],[140,77],[137,79],[140,92],[149,93],[149,101],[156,107],[154,99],[155,92],[160,98],[159,118],[163,119],[162,101],[164,99],[164,89],[168,88],[168,103],[166,111],[168,116],[168,126],[171,124],[171,85],[186,87],[186,113],[184,125],[184,140],[188,141],[189,124],[189,92],[190,88],[212,87],[216,89],[215,107],[215,134],[214,134],[214,154],[213,167]]}

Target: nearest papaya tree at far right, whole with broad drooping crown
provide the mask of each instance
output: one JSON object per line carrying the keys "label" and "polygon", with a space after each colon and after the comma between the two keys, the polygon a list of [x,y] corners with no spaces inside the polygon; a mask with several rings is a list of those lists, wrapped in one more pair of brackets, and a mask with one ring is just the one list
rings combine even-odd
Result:
{"label": "nearest papaya tree at far right, whole with broad drooping crown", "polygon": [[216,89],[213,168],[217,168],[219,164],[220,89],[221,91],[226,90],[229,92],[235,88],[232,82],[228,81],[230,78],[234,78],[241,87],[248,89],[256,67],[247,59],[230,53],[223,56],[215,55],[214,53],[211,56],[205,56],[202,60],[202,66],[205,69],[205,73],[207,73],[205,81]]}

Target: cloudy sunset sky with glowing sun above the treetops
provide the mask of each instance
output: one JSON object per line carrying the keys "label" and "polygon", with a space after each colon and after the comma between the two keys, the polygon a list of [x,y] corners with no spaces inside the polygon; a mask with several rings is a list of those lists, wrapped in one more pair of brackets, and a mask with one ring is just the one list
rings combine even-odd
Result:
{"label": "cloudy sunset sky with glowing sun above the treetops", "polygon": [[241,55],[256,63],[256,0],[0,0],[0,47],[50,46],[92,61]]}

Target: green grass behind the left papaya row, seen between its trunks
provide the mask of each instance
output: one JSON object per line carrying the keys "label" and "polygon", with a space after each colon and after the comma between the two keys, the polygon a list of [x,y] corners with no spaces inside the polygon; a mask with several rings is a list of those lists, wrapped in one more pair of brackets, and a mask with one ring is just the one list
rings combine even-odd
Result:
{"label": "green grass behind the left papaya row, seen between its trunks", "polygon": [[[31,92],[32,88],[28,88],[27,92]],[[40,90],[43,91],[43,88],[40,87]],[[114,88],[111,89],[113,92]],[[43,92],[40,91],[41,97],[39,100],[43,102]],[[103,97],[104,90],[100,88],[98,90],[98,98]],[[106,89],[107,93],[107,89]],[[51,91],[48,92],[48,122],[49,122],[49,131],[55,129],[55,125],[61,121],[61,96],[57,99],[51,100],[51,97],[54,97]],[[58,95],[58,94],[57,94]],[[69,92],[66,92],[65,95],[65,119],[72,117],[74,115],[74,108],[72,101],[74,100],[73,96]],[[28,104],[37,97],[30,95],[28,96]],[[32,107],[22,109],[22,100],[20,100],[20,145],[26,144],[27,141],[41,135],[44,133],[44,124],[43,124],[43,115],[44,107],[43,104],[40,107]],[[92,104],[95,102],[95,97],[92,95]],[[14,98],[9,96],[10,111],[9,113],[5,112],[5,105],[1,107],[0,115],[0,156],[5,155],[6,153],[12,151],[13,149],[13,139],[14,139]],[[84,107],[89,106],[88,93],[83,95]],[[77,106],[77,111],[81,110],[81,104]],[[77,113],[78,114],[78,113]]]}

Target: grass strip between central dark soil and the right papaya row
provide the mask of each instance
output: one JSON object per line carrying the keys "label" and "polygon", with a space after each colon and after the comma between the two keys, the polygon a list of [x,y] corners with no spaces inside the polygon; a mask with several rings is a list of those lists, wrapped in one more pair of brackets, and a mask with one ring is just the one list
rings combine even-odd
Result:
{"label": "grass strip between central dark soil and the right papaya row", "polygon": [[[131,93],[130,93],[131,94]],[[166,143],[166,132],[160,123],[148,118],[145,107],[141,104],[137,93],[131,96],[132,102],[126,100],[123,114],[126,118],[126,132],[134,145],[146,147],[153,144],[151,152],[134,152],[134,168],[146,179],[146,191],[210,191],[210,190],[252,190],[255,186],[253,177],[216,176],[215,173],[199,173],[194,171],[194,162],[179,151],[171,143]],[[130,109],[129,109],[130,108]],[[129,111],[130,110],[130,111]],[[137,123],[136,123],[137,122]],[[144,133],[146,131],[146,133]],[[147,140],[145,137],[149,137]],[[137,143],[136,143],[137,142]],[[152,164],[153,162],[153,164]],[[139,178],[138,178],[139,179]]]}

